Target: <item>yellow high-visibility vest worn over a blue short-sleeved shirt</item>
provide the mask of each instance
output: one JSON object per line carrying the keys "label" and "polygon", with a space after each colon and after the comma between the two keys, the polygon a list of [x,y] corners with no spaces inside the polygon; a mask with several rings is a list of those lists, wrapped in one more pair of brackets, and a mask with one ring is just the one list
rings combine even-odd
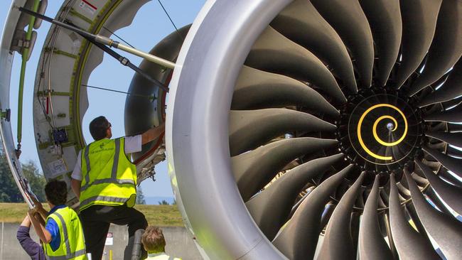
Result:
{"label": "yellow high-visibility vest worn over a blue short-sleeved shirt", "polygon": [[85,238],[77,213],[70,207],[63,207],[51,213],[46,218],[46,222],[48,223],[50,219],[58,224],[61,243],[55,251],[51,249],[50,244],[43,243],[46,258],[49,260],[86,260]]}

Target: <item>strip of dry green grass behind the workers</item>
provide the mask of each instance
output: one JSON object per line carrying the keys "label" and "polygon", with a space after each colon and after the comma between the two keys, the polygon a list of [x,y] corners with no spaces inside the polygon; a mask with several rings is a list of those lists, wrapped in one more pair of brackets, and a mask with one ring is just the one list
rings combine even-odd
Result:
{"label": "strip of dry green grass behind the workers", "polygon": [[[48,205],[43,204],[45,210]],[[176,205],[136,205],[143,212],[150,225],[161,227],[183,227],[183,220]],[[26,203],[0,203],[0,222],[21,223],[26,216]]]}

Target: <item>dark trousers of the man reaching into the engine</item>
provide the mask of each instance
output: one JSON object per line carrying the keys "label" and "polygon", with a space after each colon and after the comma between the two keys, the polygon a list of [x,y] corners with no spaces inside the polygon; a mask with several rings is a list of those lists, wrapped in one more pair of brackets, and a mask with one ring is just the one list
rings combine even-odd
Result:
{"label": "dark trousers of the man reaching into the engine", "polygon": [[[92,260],[100,260],[106,242],[107,232],[111,223],[129,226],[129,244],[124,251],[124,259],[131,259],[134,235],[138,229],[146,229],[148,222],[143,213],[133,207],[92,205],[80,212],[85,246],[87,253],[92,254]],[[141,249],[141,259],[146,258],[147,253]]]}

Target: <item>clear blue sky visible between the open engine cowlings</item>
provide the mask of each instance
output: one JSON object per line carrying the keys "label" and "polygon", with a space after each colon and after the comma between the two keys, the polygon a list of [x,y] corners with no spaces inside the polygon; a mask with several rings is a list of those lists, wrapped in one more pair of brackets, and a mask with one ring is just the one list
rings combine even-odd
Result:
{"label": "clear blue sky visible between the open engine cowlings", "polygon": [[[48,1],[48,9],[45,13],[47,16],[55,17],[62,1]],[[177,28],[186,26],[194,21],[195,16],[200,11],[200,8],[205,3],[205,0],[162,0],[163,6],[170,14]],[[8,15],[10,1],[2,1],[0,9],[0,28],[4,27],[6,16]],[[33,81],[36,77],[36,68],[38,58],[40,56],[43,41],[48,33],[50,24],[43,22],[41,28],[38,29],[38,38],[36,46],[28,61],[26,68],[26,80],[23,97],[23,140],[22,140],[22,155],[21,161],[38,161],[36,143],[33,134],[32,121],[32,100],[33,100]],[[133,23],[127,28],[122,28],[115,32],[118,36],[127,40],[128,43],[134,45],[135,48],[149,52],[162,38],[168,36],[175,28],[168,20],[168,17],[161,9],[159,2],[156,0],[149,1],[141,7],[139,13],[136,14]],[[114,36],[112,38],[115,38]],[[138,65],[141,63],[141,58],[138,58],[128,53],[118,53],[129,58],[131,63]],[[18,99],[18,82],[19,70],[21,68],[21,57],[16,53],[11,75],[11,124],[13,133],[16,136],[17,124],[17,99]],[[134,73],[127,67],[121,65],[117,60],[104,55],[104,60],[92,73],[88,85],[109,88],[127,92],[131,78]],[[104,115],[112,123],[113,136],[124,136],[124,104],[125,94],[107,92],[104,90],[88,90],[90,107],[85,114],[83,120],[84,136],[87,143],[92,141],[90,133],[87,129],[90,121],[100,115]],[[110,100],[110,102],[97,102],[97,100]],[[141,183],[141,188],[145,196],[173,196],[170,180],[167,174],[166,163],[159,163],[156,166],[156,182],[145,180]]]}

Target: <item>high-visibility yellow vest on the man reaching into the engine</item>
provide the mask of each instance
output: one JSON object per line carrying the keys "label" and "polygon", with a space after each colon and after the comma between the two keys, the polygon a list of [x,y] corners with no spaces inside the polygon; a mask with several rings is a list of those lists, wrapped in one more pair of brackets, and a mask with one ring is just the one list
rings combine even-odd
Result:
{"label": "high-visibility yellow vest on the man reaching into the engine", "polygon": [[124,151],[125,139],[102,139],[82,150],[80,210],[91,205],[133,207],[136,200],[136,166]]}

